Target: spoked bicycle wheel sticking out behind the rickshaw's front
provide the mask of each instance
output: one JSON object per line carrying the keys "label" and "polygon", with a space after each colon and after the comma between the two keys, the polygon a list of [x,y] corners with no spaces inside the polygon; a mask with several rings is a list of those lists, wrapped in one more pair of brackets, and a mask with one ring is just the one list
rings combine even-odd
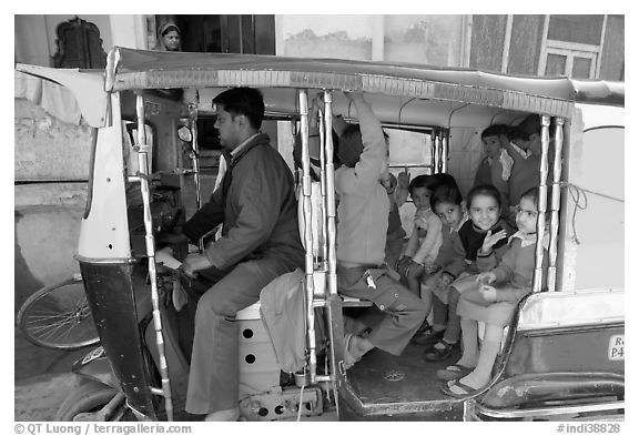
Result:
{"label": "spoked bicycle wheel sticking out behind the rickshaw's front", "polygon": [[47,348],[77,349],[100,341],[81,274],[29,296],[18,311],[17,325],[29,342]]}

